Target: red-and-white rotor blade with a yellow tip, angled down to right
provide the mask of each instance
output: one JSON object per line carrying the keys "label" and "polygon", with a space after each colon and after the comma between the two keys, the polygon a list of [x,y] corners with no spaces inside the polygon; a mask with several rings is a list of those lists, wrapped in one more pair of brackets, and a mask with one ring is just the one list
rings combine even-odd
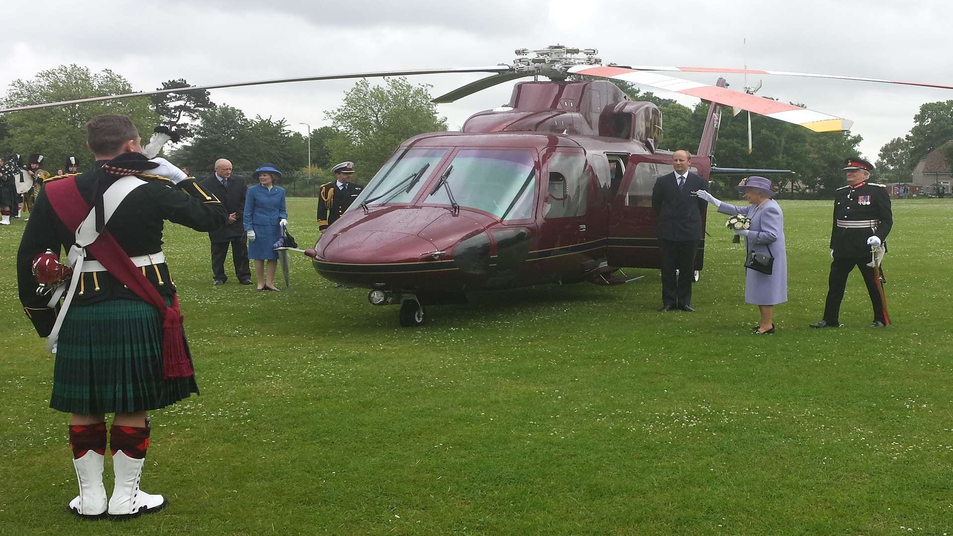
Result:
{"label": "red-and-white rotor blade with a yellow tip, angled down to right", "polygon": [[710,86],[684,78],[677,78],[656,72],[636,71],[621,67],[570,67],[568,72],[625,80],[643,86],[651,86],[659,90],[686,94],[702,100],[717,102],[724,106],[732,106],[748,112],[759,113],[795,125],[801,125],[818,133],[841,132],[850,130],[853,121],[836,115],[815,112],[793,104],[762,98],[748,93],[734,92],[717,86]]}

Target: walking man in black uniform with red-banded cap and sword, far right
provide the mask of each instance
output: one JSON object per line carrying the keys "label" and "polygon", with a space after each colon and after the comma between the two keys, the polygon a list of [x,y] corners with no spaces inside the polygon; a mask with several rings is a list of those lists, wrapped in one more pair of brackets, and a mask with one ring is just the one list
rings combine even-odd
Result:
{"label": "walking man in black uniform with red-banded cap and sword, far right", "polygon": [[874,166],[862,158],[844,161],[847,185],[834,196],[834,222],[831,227],[831,271],[828,278],[824,317],[811,327],[839,327],[839,313],[847,276],[856,266],[861,270],[867,293],[874,308],[874,323],[870,327],[890,324],[886,297],[883,294],[877,266],[870,266],[872,251],[886,251],[886,237],[893,226],[890,196],[886,186],[867,182]]}

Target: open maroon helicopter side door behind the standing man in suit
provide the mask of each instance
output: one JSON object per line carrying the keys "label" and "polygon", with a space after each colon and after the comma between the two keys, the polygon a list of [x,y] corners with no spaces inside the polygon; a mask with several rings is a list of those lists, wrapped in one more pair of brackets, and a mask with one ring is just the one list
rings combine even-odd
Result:
{"label": "open maroon helicopter side door behind the standing man in suit", "polygon": [[[660,175],[672,173],[672,156],[632,155],[619,185],[618,194],[609,208],[608,258],[612,266],[633,268],[660,268],[659,239],[656,237],[658,216],[652,210],[652,189]],[[705,168],[700,170],[700,168]],[[704,177],[707,167],[699,159],[692,159],[692,173]],[[704,229],[704,215],[701,225]],[[695,269],[700,270],[704,259],[704,238],[699,242]]]}

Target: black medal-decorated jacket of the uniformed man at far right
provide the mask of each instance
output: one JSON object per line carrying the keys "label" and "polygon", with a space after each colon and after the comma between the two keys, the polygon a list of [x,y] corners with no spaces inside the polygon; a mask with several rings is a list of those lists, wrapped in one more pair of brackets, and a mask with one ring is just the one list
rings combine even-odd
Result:
{"label": "black medal-decorated jacket of the uniformed man at far right", "polygon": [[877,236],[885,247],[891,227],[893,212],[884,185],[863,182],[857,187],[838,188],[830,242],[835,258],[869,257],[867,238]]}

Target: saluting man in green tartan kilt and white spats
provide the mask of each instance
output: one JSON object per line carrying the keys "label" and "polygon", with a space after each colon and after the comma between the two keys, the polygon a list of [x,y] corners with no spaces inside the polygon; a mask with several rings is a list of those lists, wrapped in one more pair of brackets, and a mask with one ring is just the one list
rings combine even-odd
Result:
{"label": "saluting man in green tartan kilt and white spats", "polygon": [[[163,220],[210,231],[227,215],[194,179],[139,154],[129,117],[94,117],[87,136],[95,163],[40,191],[17,253],[17,278],[27,316],[56,355],[50,405],[72,414],[79,495],[69,508],[84,517],[126,518],[168,504],[139,489],[149,447],[146,412],[198,392],[161,249]],[[61,247],[72,270],[57,261]],[[115,414],[108,504],[107,413]]]}

